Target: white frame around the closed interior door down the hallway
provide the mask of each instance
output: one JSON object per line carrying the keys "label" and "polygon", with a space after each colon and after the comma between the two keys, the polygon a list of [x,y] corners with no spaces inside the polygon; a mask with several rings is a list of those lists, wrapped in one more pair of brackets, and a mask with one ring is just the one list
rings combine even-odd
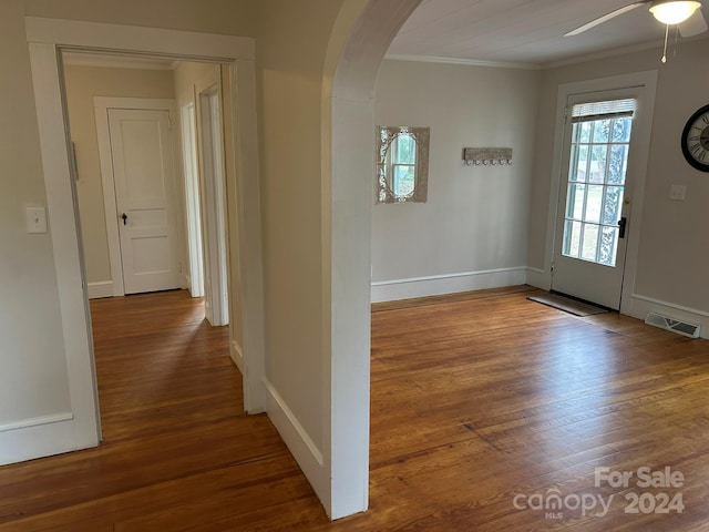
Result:
{"label": "white frame around the closed interior door down the hallway", "polygon": [[[171,99],[157,98],[111,98],[94,96],[93,110],[96,121],[96,139],[99,142],[99,160],[101,162],[101,185],[103,187],[103,211],[106,221],[106,237],[109,241],[109,260],[111,264],[111,283],[113,283],[113,295],[124,296],[125,286],[123,283],[123,254],[121,253],[121,241],[117,226],[117,207],[115,200],[115,175],[113,171],[113,157],[111,155],[111,133],[109,130],[109,109],[133,109],[141,111],[167,111],[172,122],[169,136],[173,147],[173,165],[175,168],[173,186],[177,191],[182,177],[182,164],[179,162],[179,132],[176,127],[176,103]],[[175,195],[176,197],[177,195]],[[182,226],[178,222],[179,213],[183,211],[174,202],[171,205],[174,212],[175,238],[177,246],[178,260],[183,262],[182,247],[178,243],[184,241]],[[181,274],[179,285],[185,286],[184,275]]]}

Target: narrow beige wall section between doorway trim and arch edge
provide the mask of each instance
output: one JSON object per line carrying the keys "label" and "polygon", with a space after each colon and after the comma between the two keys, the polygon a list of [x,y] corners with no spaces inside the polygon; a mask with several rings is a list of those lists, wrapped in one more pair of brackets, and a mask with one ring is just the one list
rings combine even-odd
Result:
{"label": "narrow beige wall section between doorway trim and arch edge", "polygon": [[330,29],[342,2],[258,3],[266,372],[322,450],[329,398],[323,382],[320,105]]}

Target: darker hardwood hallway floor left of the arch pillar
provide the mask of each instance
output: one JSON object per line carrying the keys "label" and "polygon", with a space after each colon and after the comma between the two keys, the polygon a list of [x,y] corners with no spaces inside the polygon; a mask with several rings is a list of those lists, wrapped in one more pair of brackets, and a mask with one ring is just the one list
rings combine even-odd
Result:
{"label": "darker hardwood hallway floor left of the arch pillar", "polygon": [[104,441],[0,468],[0,530],[249,530],[218,523],[292,500],[325,521],[268,418],[244,413],[227,328],[204,320],[202,299],[177,290],[91,310]]}

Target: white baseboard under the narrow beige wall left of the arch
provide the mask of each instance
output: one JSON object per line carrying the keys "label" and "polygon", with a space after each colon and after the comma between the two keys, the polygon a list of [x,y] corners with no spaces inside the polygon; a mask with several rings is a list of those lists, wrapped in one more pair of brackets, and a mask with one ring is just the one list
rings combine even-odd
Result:
{"label": "white baseboard under the narrow beige wall left of the arch", "polygon": [[264,380],[264,386],[267,392],[266,411],[269,419],[288,446],[290,453],[300,466],[318,498],[321,501],[329,501],[330,475],[322,452],[274,386],[268,380]]}

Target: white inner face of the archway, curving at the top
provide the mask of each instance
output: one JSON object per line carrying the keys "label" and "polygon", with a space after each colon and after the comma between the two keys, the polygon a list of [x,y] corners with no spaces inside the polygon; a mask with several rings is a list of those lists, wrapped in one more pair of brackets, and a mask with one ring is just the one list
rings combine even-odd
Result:
{"label": "white inner face of the archway, curving at the top", "polygon": [[322,173],[326,183],[330,180],[330,198],[323,219],[330,222],[330,238],[322,253],[330,265],[323,273],[330,308],[323,310],[330,317],[325,345],[331,349],[331,484],[330,500],[322,502],[332,519],[368,505],[373,95],[384,53],[419,3],[346,1],[326,57],[323,94],[329,92],[330,105],[323,105]]}

